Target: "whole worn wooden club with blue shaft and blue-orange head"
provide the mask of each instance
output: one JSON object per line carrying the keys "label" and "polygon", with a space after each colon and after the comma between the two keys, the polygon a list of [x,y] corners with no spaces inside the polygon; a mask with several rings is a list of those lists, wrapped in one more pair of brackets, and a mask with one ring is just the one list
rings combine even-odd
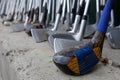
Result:
{"label": "whole worn wooden club with blue shaft and blue-orange head", "polygon": [[61,71],[70,75],[86,74],[102,60],[102,48],[113,1],[107,0],[96,32],[88,44],[81,48],[61,51],[53,56],[55,65]]}

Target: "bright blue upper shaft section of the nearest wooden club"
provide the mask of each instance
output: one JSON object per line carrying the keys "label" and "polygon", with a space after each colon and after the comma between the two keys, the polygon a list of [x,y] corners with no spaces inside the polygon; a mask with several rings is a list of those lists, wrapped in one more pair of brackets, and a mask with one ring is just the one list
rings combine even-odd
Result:
{"label": "bright blue upper shaft section of the nearest wooden club", "polygon": [[97,31],[106,33],[113,2],[114,2],[114,0],[107,0],[106,5],[103,10],[103,13],[102,13],[102,16],[98,23]]}

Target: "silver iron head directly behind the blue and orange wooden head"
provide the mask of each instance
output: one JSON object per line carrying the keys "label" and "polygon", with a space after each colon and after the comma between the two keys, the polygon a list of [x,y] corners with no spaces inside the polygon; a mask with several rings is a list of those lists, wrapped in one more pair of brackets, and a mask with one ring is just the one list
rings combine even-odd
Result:
{"label": "silver iron head directly behind the blue and orange wooden head", "polygon": [[83,46],[83,45],[85,45],[85,43],[83,41],[75,41],[75,40],[60,39],[60,38],[54,39],[55,53],[63,51],[67,48],[71,48],[71,47],[75,47],[75,46]]}

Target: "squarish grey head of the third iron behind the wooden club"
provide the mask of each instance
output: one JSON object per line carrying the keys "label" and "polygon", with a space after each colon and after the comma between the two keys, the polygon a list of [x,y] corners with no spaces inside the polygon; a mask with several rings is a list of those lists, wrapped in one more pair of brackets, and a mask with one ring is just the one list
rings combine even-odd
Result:
{"label": "squarish grey head of the third iron behind the wooden club", "polygon": [[31,34],[36,43],[47,40],[47,29],[31,29]]}

